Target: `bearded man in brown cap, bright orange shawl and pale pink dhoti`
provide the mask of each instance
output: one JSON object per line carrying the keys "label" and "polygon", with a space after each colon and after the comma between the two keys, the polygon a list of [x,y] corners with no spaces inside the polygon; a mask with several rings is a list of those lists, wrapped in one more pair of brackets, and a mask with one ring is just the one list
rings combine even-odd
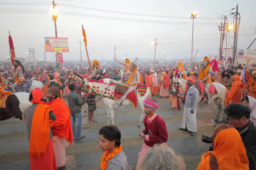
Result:
{"label": "bearded man in brown cap, bright orange shawl and pale pink dhoti", "polygon": [[57,167],[65,167],[66,165],[66,150],[64,140],[73,142],[73,132],[70,120],[70,109],[67,104],[59,98],[59,90],[52,86],[47,91],[47,103],[55,113],[56,120],[52,123],[52,142],[56,157]]}

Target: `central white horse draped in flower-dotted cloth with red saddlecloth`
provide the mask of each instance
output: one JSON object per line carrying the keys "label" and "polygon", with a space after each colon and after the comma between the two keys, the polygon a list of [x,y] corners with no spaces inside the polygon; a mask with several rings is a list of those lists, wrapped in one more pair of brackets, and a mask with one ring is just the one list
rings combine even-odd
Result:
{"label": "central white horse draped in flower-dotted cloth with red saddlecloth", "polygon": [[[103,98],[103,103],[107,108],[108,125],[110,125],[110,120],[112,125],[114,125],[114,105],[122,97],[122,93],[119,93],[116,89],[116,84],[120,83],[112,79],[103,79],[103,81],[104,82],[97,80],[87,81],[87,79],[85,79],[80,85],[79,93],[83,97],[86,95],[99,96],[100,98],[96,102]],[[137,85],[137,88],[129,93],[126,96],[126,99],[122,102],[122,105],[133,105],[135,109],[137,108],[137,104],[140,105],[142,113],[137,127],[140,127],[141,121],[144,117],[143,101],[146,97],[151,97],[150,89],[147,88],[146,85]]]}

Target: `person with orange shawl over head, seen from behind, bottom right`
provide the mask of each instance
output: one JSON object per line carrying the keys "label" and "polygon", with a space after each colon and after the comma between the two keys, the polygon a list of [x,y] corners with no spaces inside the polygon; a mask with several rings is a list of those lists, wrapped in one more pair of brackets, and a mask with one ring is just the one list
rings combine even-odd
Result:
{"label": "person with orange shawl over head, seen from behind, bottom right", "polygon": [[219,125],[212,138],[214,151],[202,155],[197,170],[249,170],[241,136],[232,125]]}

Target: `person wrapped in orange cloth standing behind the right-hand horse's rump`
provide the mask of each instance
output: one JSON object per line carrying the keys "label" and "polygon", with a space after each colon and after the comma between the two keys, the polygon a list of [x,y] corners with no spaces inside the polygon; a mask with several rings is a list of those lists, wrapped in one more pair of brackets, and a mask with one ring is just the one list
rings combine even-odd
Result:
{"label": "person wrapped in orange cloth standing behind the right-hand horse's rump", "polygon": [[243,83],[241,82],[240,76],[238,75],[234,76],[234,81],[230,88],[230,94],[229,94],[229,99],[227,101],[227,104],[230,104],[232,102],[233,103],[241,102],[242,88],[243,88]]}

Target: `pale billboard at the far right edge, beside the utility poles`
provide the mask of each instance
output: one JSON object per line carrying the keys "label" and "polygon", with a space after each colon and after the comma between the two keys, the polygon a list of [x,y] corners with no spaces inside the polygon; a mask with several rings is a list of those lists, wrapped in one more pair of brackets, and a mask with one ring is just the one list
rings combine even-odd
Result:
{"label": "pale billboard at the far right edge, beside the utility poles", "polygon": [[238,49],[236,57],[238,64],[256,64],[256,50]]}

